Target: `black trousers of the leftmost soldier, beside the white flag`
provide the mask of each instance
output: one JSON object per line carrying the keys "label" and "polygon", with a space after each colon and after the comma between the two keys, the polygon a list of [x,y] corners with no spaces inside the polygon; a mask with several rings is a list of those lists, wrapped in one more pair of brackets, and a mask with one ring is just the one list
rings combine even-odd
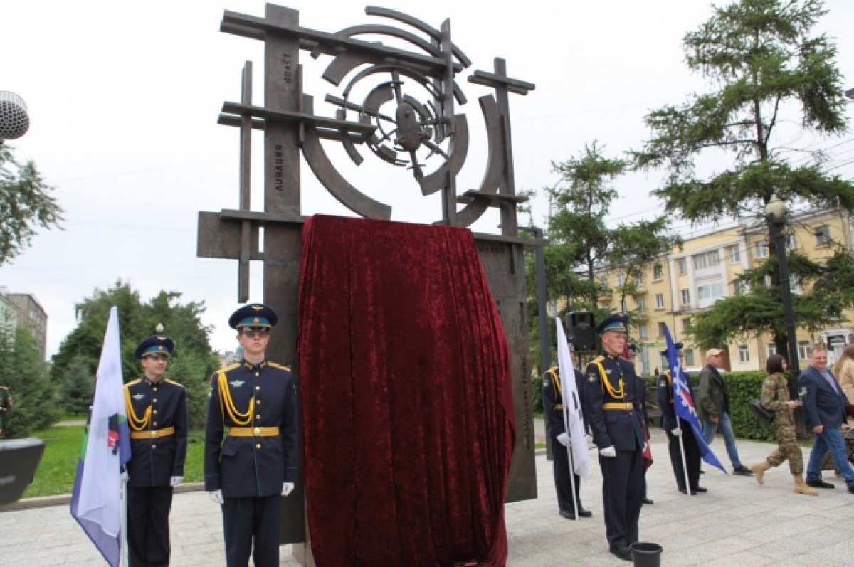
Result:
{"label": "black trousers of the leftmost soldier, beside the white flag", "polygon": [[171,486],[127,487],[127,563],[130,567],[169,564]]}

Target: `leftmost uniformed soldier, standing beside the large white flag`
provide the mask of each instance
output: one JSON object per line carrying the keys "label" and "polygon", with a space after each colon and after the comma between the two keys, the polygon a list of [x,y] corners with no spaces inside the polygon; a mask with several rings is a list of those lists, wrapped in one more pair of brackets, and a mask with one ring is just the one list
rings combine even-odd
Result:
{"label": "leftmost uniformed soldier, standing beside the large white flag", "polygon": [[131,460],[127,462],[127,559],[131,567],[169,564],[169,510],[184,479],[187,396],[163,378],[175,343],[158,324],[134,351],[143,377],[125,384]]}

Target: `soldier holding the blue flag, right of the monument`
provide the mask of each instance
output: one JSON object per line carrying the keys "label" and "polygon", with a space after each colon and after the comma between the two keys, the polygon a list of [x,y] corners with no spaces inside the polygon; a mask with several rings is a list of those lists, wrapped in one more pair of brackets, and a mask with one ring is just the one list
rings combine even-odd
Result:
{"label": "soldier holding the blue flag, right of the monument", "polygon": [[[685,359],[682,354],[682,343],[673,345],[679,354],[680,366]],[[667,356],[667,350],[661,351],[662,356]],[[670,362],[668,362],[670,364]],[[691,388],[691,378],[685,376],[688,388]],[[667,435],[667,449],[670,453],[670,465],[673,466],[673,474],[676,476],[676,488],[682,494],[698,494],[707,492],[699,485],[700,453],[697,439],[694,437],[693,429],[682,418],[676,417],[673,407],[673,377],[670,376],[670,368],[658,377],[658,407],[661,408],[661,428]],[[679,447],[679,438],[682,438],[682,446],[685,448],[685,464],[682,465],[682,453]],[[685,469],[688,470],[688,480],[685,482]]]}

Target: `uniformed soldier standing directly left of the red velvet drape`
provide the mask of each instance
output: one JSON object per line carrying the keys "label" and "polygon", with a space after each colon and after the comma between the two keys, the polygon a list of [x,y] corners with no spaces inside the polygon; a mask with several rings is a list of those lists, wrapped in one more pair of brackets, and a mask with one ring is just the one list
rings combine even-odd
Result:
{"label": "uniformed soldier standing directly left of the red velvet drape", "polygon": [[297,410],[290,368],[266,359],[271,307],[254,303],[228,320],[243,360],[213,373],[205,432],[205,490],[222,505],[229,567],[278,565],[282,496],[294,489]]}

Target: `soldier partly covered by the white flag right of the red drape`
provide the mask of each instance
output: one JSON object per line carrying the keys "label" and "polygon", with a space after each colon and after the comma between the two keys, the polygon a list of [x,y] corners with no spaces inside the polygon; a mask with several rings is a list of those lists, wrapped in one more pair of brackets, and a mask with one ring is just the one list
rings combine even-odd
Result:
{"label": "soldier partly covered by the white flag right of the red drape", "polygon": [[[583,387],[581,371],[575,371],[576,389],[581,397]],[[584,415],[583,402],[582,417],[584,418],[584,430],[588,431],[587,416]],[[570,471],[569,447],[570,435],[566,431],[564,423],[564,398],[560,386],[560,373],[558,365],[549,368],[542,377],[542,408],[546,414],[546,435],[552,440],[553,476],[554,488],[558,492],[558,508],[562,517],[569,520],[576,519],[575,506],[572,504],[572,487],[570,486],[570,474],[574,476],[576,487],[576,501],[578,502],[578,515],[580,517],[591,517],[593,512],[585,510],[581,499],[581,476]],[[586,440],[585,440],[586,441]]]}

